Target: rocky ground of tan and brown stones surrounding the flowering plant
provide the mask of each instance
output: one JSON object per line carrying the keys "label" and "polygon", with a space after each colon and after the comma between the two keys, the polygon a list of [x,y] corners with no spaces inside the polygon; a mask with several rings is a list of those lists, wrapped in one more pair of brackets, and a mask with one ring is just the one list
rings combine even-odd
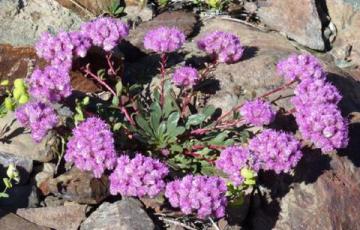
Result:
{"label": "rocky ground of tan and brown stones surrounding the flowering plant", "polygon": [[[79,3],[77,5],[75,3]],[[31,47],[42,31],[72,30],[104,12],[109,1],[0,0],[0,80],[26,77],[43,65]],[[219,65],[212,73],[216,87],[204,102],[229,109],[241,100],[282,84],[275,64],[290,53],[318,56],[329,79],[341,90],[341,107],[349,119],[351,141],[347,149],[329,156],[305,154],[295,175],[260,175],[256,195],[247,197],[241,210],[229,210],[220,229],[358,229],[360,225],[360,4],[356,0],[238,1],[233,15],[199,17],[191,11],[156,12],[126,1],[124,20],[133,22],[128,42],[118,50],[125,57],[125,75],[151,79],[157,74],[157,57],[145,53],[145,31],[159,25],[178,26],[189,40],[208,31],[237,34],[246,46],[245,56],[233,65]],[[181,7],[180,7],[181,8]],[[232,13],[235,12],[240,13]],[[235,16],[234,16],[235,15]],[[250,15],[243,18],[239,15]],[[238,17],[237,17],[238,16]],[[240,18],[240,19],[239,19]],[[246,19],[247,18],[247,19]],[[172,64],[199,65],[204,56],[188,43],[173,56]],[[139,68],[141,67],[141,68]],[[73,87],[81,93],[99,88],[79,73]],[[289,104],[282,102],[283,107]],[[69,111],[63,111],[64,114]],[[122,199],[114,202],[107,178],[71,169],[58,175],[55,141],[36,144],[14,121],[0,119],[0,175],[15,162],[21,181],[0,200],[1,229],[192,229],[211,224],[165,215],[157,200]],[[190,227],[191,226],[191,227]],[[199,227],[200,226],[200,227]]]}

